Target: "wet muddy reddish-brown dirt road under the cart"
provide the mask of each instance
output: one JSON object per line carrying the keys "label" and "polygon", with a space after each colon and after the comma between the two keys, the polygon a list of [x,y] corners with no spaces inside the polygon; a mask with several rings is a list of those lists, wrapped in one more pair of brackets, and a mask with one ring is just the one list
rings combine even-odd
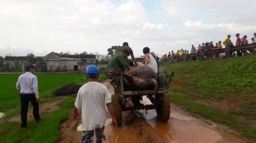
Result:
{"label": "wet muddy reddish-brown dirt road under the cart", "polygon": [[[104,81],[103,84],[113,94],[109,80]],[[147,99],[143,99],[143,102],[151,103]],[[155,110],[148,110],[147,114],[144,110],[127,111],[122,113],[122,117],[124,119],[122,126],[112,127],[109,125],[111,117],[108,112],[104,130],[106,141],[103,142],[249,142],[227,127],[201,119],[174,104],[170,104],[170,119],[167,123],[157,120]],[[80,124],[81,120],[73,121],[71,118],[61,124],[59,142],[80,142],[82,132],[77,131],[80,130]],[[77,126],[79,127],[76,128]]]}

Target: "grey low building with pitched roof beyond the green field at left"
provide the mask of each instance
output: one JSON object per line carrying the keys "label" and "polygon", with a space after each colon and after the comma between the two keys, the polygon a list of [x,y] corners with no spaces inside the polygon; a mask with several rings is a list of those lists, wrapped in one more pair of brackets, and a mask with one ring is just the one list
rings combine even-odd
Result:
{"label": "grey low building with pitched roof beyond the green field at left", "polygon": [[96,65],[96,55],[60,55],[51,52],[44,57],[46,71],[84,71],[88,65]]}

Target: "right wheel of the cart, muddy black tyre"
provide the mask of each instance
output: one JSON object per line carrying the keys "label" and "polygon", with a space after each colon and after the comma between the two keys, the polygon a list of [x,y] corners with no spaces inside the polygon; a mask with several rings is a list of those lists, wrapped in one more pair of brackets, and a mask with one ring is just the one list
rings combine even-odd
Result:
{"label": "right wheel of the cart, muddy black tyre", "polygon": [[168,96],[164,94],[158,94],[156,97],[156,111],[157,117],[161,121],[167,122],[170,118],[170,103]]}

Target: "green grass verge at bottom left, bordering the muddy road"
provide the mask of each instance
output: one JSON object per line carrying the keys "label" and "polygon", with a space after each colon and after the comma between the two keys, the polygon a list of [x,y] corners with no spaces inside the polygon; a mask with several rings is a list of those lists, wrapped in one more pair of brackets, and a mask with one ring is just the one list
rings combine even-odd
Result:
{"label": "green grass verge at bottom left, bordering the muddy road", "polygon": [[74,106],[75,97],[59,103],[61,109],[44,117],[40,122],[28,121],[28,127],[22,129],[20,123],[3,122],[0,126],[1,142],[56,142],[59,140],[59,125],[68,119],[70,108]]}

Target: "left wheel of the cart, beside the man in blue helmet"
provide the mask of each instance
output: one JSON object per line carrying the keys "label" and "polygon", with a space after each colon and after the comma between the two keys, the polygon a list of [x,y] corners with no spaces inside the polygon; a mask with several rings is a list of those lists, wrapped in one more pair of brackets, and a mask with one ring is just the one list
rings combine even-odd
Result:
{"label": "left wheel of the cart, beside the man in blue helmet", "polygon": [[122,123],[122,110],[121,110],[118,94],[114,94],[111,96],[111,103],[112,103],[112,107],[114,110],[114,115],[115,115],[117,124],[118,124],[118,126],[120,126]]}

